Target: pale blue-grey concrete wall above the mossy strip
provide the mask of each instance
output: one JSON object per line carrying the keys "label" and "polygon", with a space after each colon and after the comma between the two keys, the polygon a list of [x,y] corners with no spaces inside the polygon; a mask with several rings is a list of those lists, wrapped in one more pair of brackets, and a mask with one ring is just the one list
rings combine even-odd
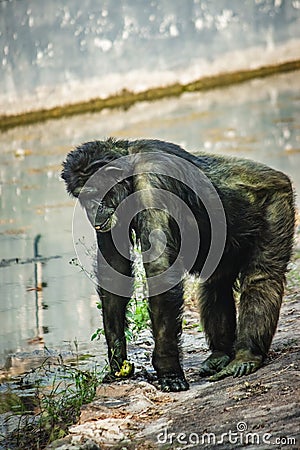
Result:
{"label": "pale blue-grey concrete wall above the mossy strip", "polygon": [[294,59],[299,0],[0,2],[0,115]]}

